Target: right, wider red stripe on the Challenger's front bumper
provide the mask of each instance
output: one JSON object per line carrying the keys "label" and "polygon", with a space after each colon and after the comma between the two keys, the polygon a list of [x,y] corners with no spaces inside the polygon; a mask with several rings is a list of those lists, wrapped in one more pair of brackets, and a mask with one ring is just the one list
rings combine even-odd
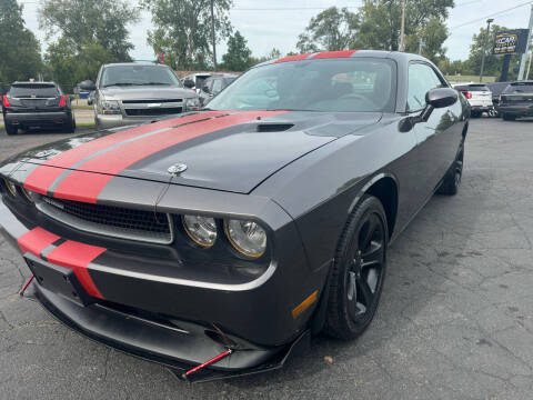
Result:
{"label": "right, wider red stripe on the Challenger's front bumper", "polygon": [[103,299],[87,267],[105,250],[104,248],[68,240],[50,251],[47,259],[53,264],[73,270],[81,286],[90,296]]}

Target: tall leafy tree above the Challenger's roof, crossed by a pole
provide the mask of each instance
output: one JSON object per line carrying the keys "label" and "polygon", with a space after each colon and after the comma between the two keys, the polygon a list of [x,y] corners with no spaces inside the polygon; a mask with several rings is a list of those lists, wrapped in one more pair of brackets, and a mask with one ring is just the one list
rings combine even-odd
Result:
{"label": "tall leafy tree above the Challenger's roof, crossed by a pole", "polygon": [[[447,38],[444,24],[453,0],[410,0],[406,4],[405,40],[408,52],[418,52],[422,40],[423,54],[438,62],[443,58],[442,47]],[[360,34],[355,47],[363,49],[398,50],[401,27],[401,0],[368,0],[359,10]]]}

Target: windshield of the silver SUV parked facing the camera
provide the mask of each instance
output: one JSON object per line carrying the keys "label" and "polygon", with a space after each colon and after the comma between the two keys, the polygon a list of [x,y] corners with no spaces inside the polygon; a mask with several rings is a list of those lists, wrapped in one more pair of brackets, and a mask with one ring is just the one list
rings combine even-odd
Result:
{"label": "windshield of the silver SUV parked facing the camera", "polygon": [[179,86],[174,72],[161,66],[112,66],[102,71],[101,88],[112,86]]}

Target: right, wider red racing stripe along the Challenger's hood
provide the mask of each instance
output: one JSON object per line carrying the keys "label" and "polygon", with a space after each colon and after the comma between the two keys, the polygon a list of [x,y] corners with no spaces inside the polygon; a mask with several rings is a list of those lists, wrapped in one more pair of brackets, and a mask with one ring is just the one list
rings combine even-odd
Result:
{"label": "right, wider red racing stripe along the Challenger's hood", "polygon": [[[67,200],[95,203],[105,187],[122,170],[161,150],[188,140],[237,124],[268,118],[286,111],[245,111],[198,123],[178,127],[148,138],[139,139],[107,151],[70,173],[54,191],[54,197]],[[89,172],[90,171],[90,172]]]}

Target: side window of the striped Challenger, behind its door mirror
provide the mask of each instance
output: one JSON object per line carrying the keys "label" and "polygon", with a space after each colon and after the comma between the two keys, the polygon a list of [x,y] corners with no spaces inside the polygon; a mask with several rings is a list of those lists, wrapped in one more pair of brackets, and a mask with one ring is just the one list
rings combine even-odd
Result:
{"label": "side window of the striped Challenger, behind its door mirror", "polygon": [[443,83],[433,69],[424,63],[409,66],[408,110],[418,111],[425,107],[425,93]]}

